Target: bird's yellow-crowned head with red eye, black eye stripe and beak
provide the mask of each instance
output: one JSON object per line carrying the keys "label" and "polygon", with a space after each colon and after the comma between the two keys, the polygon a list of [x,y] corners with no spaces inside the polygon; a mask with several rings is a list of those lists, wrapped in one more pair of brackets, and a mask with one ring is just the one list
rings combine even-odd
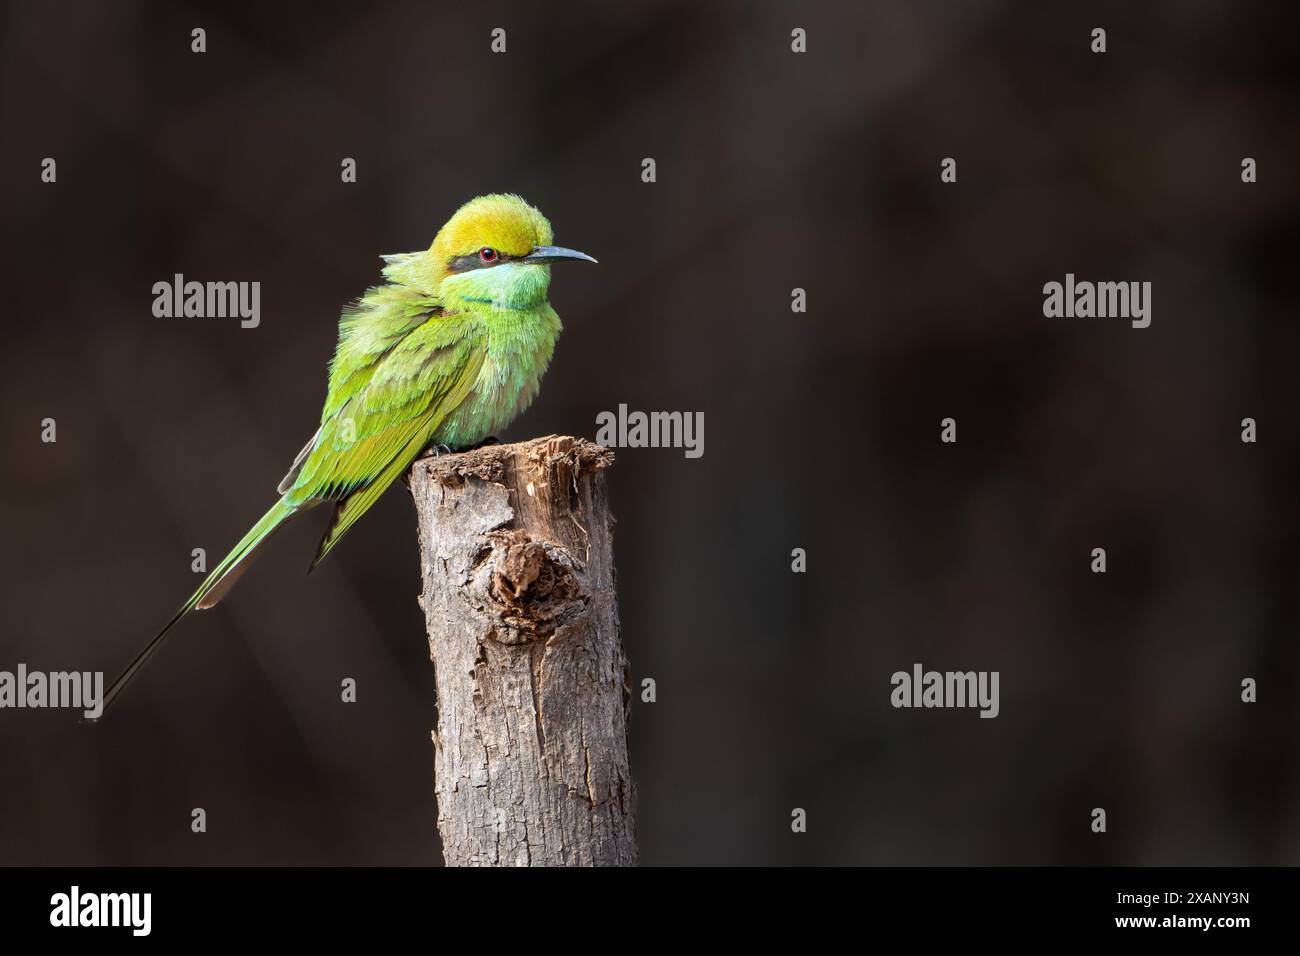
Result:
{"label": "bird's yellow-crowned head with red eye, black eye stripe and beak", "polygon": [[519,196],[478,196],[456,209],[426,252],[404,261],[393,256],[385,273],[419,285],[448,308],[530,308],[546,299],[551,263],[595,261],[551,239],[551,224]]}

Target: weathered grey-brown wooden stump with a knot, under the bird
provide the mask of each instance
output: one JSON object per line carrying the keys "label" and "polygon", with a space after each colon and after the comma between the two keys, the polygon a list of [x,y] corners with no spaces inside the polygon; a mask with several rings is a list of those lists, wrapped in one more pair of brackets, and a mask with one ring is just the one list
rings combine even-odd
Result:
{"label": "weathered grey-brown wooden stump with a knot, under the bird", "polygon": [[550,436],[411,471],[448,866],[636,862],[612,462]]}

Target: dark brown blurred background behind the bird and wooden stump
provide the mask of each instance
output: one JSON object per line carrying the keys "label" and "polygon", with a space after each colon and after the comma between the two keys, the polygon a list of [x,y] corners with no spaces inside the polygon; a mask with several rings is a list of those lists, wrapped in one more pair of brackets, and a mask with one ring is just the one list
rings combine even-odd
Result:
{"label": "dark brown blurred background behind the bird and wooden stump", "polygon": [[[610,472],[644,862],[1300,862],[1295,4],[3,18],[0,669],[112,679],[273,499],[377,256],[517,191],[601,265],[503,437],[706,420]],[[177,272],[260,328],[153,317]],[[1153,282],[1150,328],[1045,319],[1066,272]],[[307,578],[321,520],[104,724],[0,711],[0,862],[439,861],[413,509]],[[914,662],[1001,715],[894,710]]]}

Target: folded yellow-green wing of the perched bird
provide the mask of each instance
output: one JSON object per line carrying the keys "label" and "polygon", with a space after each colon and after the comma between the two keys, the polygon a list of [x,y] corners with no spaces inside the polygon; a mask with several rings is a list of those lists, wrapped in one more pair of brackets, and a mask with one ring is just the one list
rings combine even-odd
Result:
{"label": "folded yellow-green wing of the perched bird", "polygon": [[281,483],[290,503],[339,502],[312,567],[410,467],[478,377],[486,342],[473,317],[419,319],[359,316],[339,341],[320,431]]}

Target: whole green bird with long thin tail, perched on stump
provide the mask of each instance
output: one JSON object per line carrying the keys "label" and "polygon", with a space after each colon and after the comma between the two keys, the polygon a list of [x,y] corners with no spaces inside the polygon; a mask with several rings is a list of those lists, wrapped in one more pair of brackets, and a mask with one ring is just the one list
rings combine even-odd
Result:
{"label": "whole green bird with long thin tail, perched on stump", "polygon": [[290,518],[333,509],[311,571],[417,458],[495,441],[533,402],[562,329],[550,267],[597,261],[552,241],[536,207],[490,194],[456,209],[428,250],[382,256],[385,281],[342,311],[320,427],[280,498],[112,683],[100,717],[172,628],[214,607]]}

